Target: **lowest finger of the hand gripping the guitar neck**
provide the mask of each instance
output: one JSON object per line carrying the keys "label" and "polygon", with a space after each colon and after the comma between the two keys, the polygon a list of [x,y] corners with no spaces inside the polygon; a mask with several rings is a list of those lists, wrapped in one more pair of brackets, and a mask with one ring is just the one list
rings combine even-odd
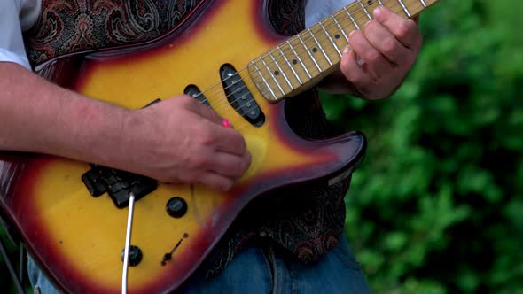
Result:
{"label": "lowest finger of the hand gripping the guitar neck", "polygon": [[347,46],[343,51],[340,61],[340,71],[345,75],[348,81],[355,85],[355,88],[363,92],[371,86],[371,75],[365,72],[363,66],[358,66],[355,51]]}

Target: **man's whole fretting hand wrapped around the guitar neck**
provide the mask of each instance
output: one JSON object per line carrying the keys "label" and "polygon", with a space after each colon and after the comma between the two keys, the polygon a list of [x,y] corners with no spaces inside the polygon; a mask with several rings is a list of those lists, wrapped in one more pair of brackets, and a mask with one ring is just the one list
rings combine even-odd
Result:
{"label": "man's whole fretting hand wrapped around the guitar neck", "polygon": [[386,7],[348,37],[340,71],[322,82],[334,93],[382,99],[394,93],[418,58],[422,36],[416,21],[403,19]]}

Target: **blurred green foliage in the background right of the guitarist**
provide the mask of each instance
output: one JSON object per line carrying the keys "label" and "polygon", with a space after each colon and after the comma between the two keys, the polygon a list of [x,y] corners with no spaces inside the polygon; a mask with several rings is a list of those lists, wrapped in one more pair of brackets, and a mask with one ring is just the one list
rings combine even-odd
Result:
{"label": "blurred green foliage in the background right of the guitarist", "polygon": [[347,235],[376,293],[523,293],[523,2],[442,0],[382,101],[323,95],[369,149]]}

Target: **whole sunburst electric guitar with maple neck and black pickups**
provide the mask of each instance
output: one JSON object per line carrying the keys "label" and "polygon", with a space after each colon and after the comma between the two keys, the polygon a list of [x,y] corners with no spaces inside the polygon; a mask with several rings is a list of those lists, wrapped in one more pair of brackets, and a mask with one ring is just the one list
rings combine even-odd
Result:
{"label": "whole sunburst electric guitar with maple neck and black pickups", "polygon": [[222,193],[70,159],[4,152],[2,210],[59,289],[116,293],[132,192],[137,202],[129,292],[176,290],[254,197],[303,182],[332,184],[353,172],[363,158],[362,134],[301,138],[287,124],[280,101],[332,73],[349,33],[363,27],[378,5],[410,18],[436,1],[358,0],[290,38],[270,26],[263,0],[208,1],[181,24],[181,35],[88,54],[74,65],[79,70],[71,89],[135,109],[157,98],[191,95],[244,135],[251,166]]}

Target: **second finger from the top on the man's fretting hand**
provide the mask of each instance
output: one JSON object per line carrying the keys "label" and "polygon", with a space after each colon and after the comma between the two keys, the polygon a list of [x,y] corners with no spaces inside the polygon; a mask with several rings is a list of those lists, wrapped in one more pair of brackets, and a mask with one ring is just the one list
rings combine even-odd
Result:
{"label": "second finger from the top on the man's fretting hand", "polygon": [[379,51],[392,64],[406,63],[410,56],[409,48],[399,42],[386,27],[378,21],[369,21],[365,24],[363,33],[371,46]]}

